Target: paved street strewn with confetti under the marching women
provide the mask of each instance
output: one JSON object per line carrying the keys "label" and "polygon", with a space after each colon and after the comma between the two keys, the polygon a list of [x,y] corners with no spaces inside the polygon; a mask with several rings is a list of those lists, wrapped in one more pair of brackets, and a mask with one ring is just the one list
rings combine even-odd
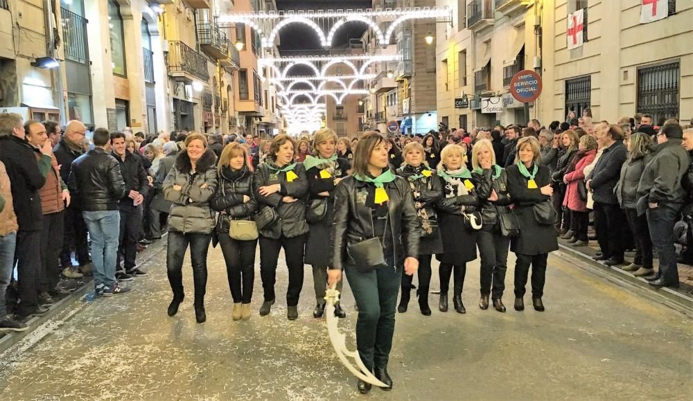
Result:
{"label": "paved street strewn with confetti under the marching women", "polygon": [[[219,249],[210,252],[207,323],[195,324],[188,298],[166,316],[170,290],[164,247],[125,296],[79,303],[0,357],[0,399],[314,400],[358,398],[337,362],[322,320],[313,319],[308,269],[299,320],[283,302],[250,321],[231,321]],[[286,290],[280,269],[278,294]],[[433,287],[437,287],[434,275]],[[512,283],[509,274],[507,283]],[[356,312],[345,286],[353,343]],[[693,392],[690,317],[627,292],[556,256],[547,271],[547,312],[477,308],[478,263],[468,269],[468,313],[423,317],[415,301],[398,314],[389,400],[686,399]],[[281,296],[280,296],[281,297]],[[432,305],[436,305],[431,294]],[[527,299],[529,303],[529,299]],[[353,345],[352,345],[353,346]]]}

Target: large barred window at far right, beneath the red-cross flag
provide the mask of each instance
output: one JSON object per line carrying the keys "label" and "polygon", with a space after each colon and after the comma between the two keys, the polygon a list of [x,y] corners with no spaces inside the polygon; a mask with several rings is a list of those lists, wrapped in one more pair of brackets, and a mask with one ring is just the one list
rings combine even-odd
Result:
{"label": "large barred window at far right, beneath the red-cross flag", "polygon": [[681,93],[681,62],[638,69],[638,113],[660,118],[678,118]]}

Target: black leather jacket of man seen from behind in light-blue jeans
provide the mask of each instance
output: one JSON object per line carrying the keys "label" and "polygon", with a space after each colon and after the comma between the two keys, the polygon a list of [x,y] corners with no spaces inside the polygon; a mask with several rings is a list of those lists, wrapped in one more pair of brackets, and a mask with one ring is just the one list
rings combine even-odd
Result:
{"label": "black leather jacket of man seen from behind in light-blue jeans", "polygon": [[82,211],[116,211],[128,190],[118,161],[102,148],[72,162],[68,186]]}

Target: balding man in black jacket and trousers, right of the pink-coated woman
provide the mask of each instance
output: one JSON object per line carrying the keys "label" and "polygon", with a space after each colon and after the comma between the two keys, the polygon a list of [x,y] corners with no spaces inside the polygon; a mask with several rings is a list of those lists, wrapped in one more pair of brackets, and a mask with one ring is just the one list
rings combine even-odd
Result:
{"label": "balding man in black jacket and trousers, right of the pink-coated woman", "polygon": [[612,124],[599,130],[597,142],[603,149],[602,156],[587,177],[587,188],[593,193],[595,201],[597,242],[602,249],[602,256],[595,257],[595,260],[603,260],[605,265],[615,266],[623,263],[624,227],[627,224],[614,193],[621,176],[621,167],[627,158],[621,127]]}

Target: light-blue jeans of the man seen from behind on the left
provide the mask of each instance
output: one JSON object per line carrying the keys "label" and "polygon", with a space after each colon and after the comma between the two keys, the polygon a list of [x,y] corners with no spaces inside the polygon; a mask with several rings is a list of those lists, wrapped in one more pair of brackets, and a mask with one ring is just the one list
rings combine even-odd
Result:
{"label": "light-blue jeans of the man seen from behind on the left", "polygon": [[116,285],[116,261],[121,231],[119,211],[83,211],[91,238],[91,263],[94,265],[94,285]]}

